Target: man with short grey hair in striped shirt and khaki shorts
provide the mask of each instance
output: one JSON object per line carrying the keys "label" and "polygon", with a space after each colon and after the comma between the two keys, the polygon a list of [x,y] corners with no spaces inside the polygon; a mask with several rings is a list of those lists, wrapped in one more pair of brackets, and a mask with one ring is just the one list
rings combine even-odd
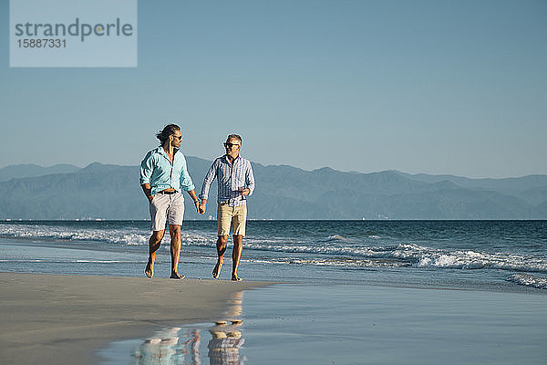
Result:
{"label": "man with short grey hair in striped shirt and khaki shorts", "polygon": [[242,138],[237,134],[230,134],[224,143],[226,154],[218,157],[205,175],[201,186],[200,213],[205,213],[207,197],[212,181],[218,181],[217,220],[218,239],[216,242],[218,260],[212,270],[212,277],[217,279],[221,274],[222,261],[230,227],[233,233],[232,249],[232,280],[241,281],[237,276],[237,268],[242,257],[243,236],[247,220],[247,200],[254,190],[253,168],[249,160],[243,159],[239,151],[242,148]]}

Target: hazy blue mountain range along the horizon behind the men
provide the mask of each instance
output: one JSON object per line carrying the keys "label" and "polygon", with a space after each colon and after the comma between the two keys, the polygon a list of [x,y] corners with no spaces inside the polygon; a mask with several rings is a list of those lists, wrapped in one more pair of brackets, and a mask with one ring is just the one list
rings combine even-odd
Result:
{"label": "hazy blue mountain range along the horizon behind the men", "polygon": [[[187,156],[199,193],[211,161]],[[470,179],[397,171],[305,171],[253,162],[250,219],[547,219],[547,175]],[[13,165],[0,169],[0,219],[149,219],[139,166]],[[210,202],[216,200],[216,182]],[[188,197],[188,195],[185,195]],[[186,219],[212,219],[216,204]]]}

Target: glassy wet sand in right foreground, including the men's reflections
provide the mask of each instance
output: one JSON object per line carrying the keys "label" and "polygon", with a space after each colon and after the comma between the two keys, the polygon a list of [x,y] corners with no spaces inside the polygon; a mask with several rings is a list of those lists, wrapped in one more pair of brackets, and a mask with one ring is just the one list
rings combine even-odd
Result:
{"label": "glassy wet sand in right foreground, including the men's reflections", "polygon": [[446,287],[276,284],[237,293],[222,322],[113,342],[99,350],[99,364],[543,364],[545,298]]}

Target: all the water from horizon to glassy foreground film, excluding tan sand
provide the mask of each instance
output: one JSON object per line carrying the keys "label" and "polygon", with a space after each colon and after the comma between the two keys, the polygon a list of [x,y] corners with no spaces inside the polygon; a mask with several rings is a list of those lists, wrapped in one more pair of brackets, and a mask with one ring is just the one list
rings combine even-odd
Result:
{"label": "all the water from horizon to glassy foreground film, excluding tan sand", "polygon": [[[144,276],[149,227],[0,222],[0,271]],[[185,222],[179,271],[211,278],[215,241],[216,222]],[[238,274],[281,284],[236,293],[210,323],[110,343],[98,363],[547,360],[547,221],[249,221]],[[166,236],[155,277],[169,275]]]}

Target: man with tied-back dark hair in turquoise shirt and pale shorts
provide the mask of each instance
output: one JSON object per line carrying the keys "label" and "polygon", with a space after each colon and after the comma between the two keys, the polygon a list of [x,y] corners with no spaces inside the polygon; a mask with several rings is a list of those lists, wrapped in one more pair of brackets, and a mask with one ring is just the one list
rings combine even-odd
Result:
{"label": "man with tied-back dark hair in turquoise shirt and pale shorts", "polygon": [[149,151],[140,162],[140,186],[150,203],[152,221],[150,236],[150,255],[145,269],[148,277],[154,276],[154,260],[165,233],[166,221],[169,222],[171,273],[170,278],[182,279],[179,274],[181,255],[181,225],[184,217],[184,197],[181,191],[190,194],[200,212],[200,201],[194,192],[186,166],[186,159],[180,151],[182,134],[176,124],[168,124],[156,134],[160,147]]}

